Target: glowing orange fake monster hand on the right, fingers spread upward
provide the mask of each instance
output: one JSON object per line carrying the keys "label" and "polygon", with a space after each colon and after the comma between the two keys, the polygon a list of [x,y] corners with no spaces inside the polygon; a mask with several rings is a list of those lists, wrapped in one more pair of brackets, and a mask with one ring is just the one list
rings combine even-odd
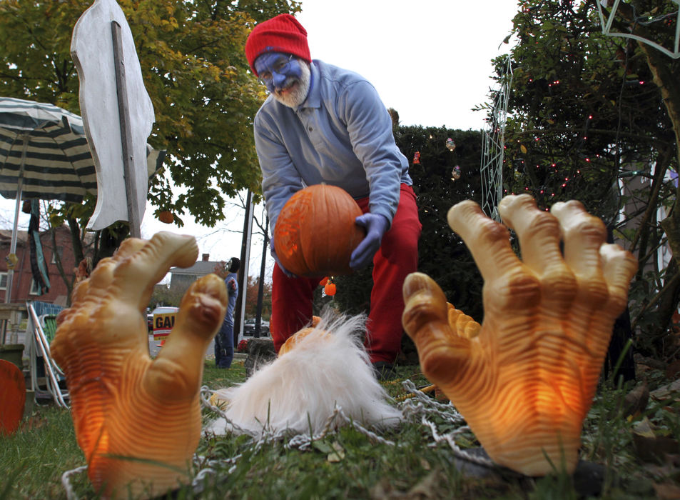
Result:
{"label": "glowing orange fake monster hand on the right, fingers spread upward", "polygon": [[507,229],[474,202],[448,214],[484,278],[479,333],[470,321],[472,335],[457,331],[456,311],[425,274],[405,281],[404,327],[427,378],[497,464],[540,476],[553,470],[552,461],[571,473],[637,263],[619,246],[604,244],[604,224],[578,201],[557,203],[549,214],[531,196],[507,196],[499,213],[519,237],[522,261]]}

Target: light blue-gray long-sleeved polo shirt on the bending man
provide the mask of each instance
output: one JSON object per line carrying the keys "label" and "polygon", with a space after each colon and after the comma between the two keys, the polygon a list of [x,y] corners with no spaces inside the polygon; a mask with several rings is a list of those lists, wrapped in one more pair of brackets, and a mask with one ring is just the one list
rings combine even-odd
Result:
{"label": "light blue-gray long-sleeved polo shirt on the bending man", "polygon": [[[269,96],[255,115],[255,147],[272,229],[286,201],[312,184],[370,196],[370,212],[392,221],[400,184],[412,184],[392,120],[362,76],[314,60],[305,102],[293,109]],[[273,233],[273,231],[272,231]]]}

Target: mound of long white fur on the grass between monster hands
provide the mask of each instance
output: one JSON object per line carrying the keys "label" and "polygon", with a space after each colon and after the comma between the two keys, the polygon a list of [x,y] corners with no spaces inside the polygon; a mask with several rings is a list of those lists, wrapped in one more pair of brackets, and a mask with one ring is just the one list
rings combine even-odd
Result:
{"label": "mound of long white fur on the grass between monster hands", "polygon": [[387,402],[358,339],[364,324],[365,316],[322,319],[293,349],[243,384],[215,391],[217,399],[228,402],[225,416],[237,427],[220,418],[206,430],[317,434],[335,406],[363,425],[385,429],[398,424],[402,414]]}

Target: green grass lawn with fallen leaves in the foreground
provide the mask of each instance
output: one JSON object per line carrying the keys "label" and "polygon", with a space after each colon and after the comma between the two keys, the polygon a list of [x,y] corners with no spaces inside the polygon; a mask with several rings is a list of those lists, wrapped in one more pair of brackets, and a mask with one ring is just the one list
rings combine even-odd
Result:
{"label": "green grass lawn with fallen leaves in the foreground", "polygon": [[[213,364],[206,361],[203,376],[203,383],[212,389],[245,379],[242,361],[235,361],[229,370],[216,369]],[[416,386],[427,385],[418,366],[400,366],[398,373]],[[400,381],[383,385],[395,398],[405,396]],[[601,498],[657,498],[655,486],[680,486],[680,464],[642,460],[633,428],[646,418],[657,436],[673,442],[674,436],[680,435],[680,404],[650,402],[644,414],[625,419],[620,411],[625,393],[612,384],[599,388],[584,422],[582,457],[603,464],[607,471]],[[280,442],[254,447],[246,436],[204,436],[197,454],[218,461],[213,466],[215,474],[208,476],[198,495],[186,487],[176,491],[173,498],[579,498],[567,474],[542,479],[505,473],[463,477],[456,469],[453,451],[445,444],[432,445],[429,429],[419,422],[381,436],[396,446],[380,444],[351,427],[315,441],[306,450],[287,449]],[[478,446],[472,434],[460,442],[460,446],[467,445]],[[227,461],[239,454],[235,464]],[[61,474],[83,464],[68,411],[38,407],[16,434],[0,437],[0,499],[65,499]],[[79,498],[96,498],[86,474],[75,474],[71,481]]]}

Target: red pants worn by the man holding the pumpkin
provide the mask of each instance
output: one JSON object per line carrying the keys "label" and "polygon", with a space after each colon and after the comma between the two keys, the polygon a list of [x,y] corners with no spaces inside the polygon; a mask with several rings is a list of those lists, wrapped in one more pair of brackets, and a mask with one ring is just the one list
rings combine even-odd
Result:
{"label": "red pants worn by the man holding the pumpkin", "polygon": [[[364,213],[368,211],[368,198],[358,199],[357,204]],[[373,288],[366,325],[366,350],[371,362],[394,363],[399,354],[404,311],[402,285],[407,274],[417,269],[421,229],[415,193],[411,186],[402,184],[392,226],[382,236],[380,249],[373,257]],[[313,293],[322,278],[289,278],[274,265],[270,332],[277,352],[288,337],[312,319]]]}

